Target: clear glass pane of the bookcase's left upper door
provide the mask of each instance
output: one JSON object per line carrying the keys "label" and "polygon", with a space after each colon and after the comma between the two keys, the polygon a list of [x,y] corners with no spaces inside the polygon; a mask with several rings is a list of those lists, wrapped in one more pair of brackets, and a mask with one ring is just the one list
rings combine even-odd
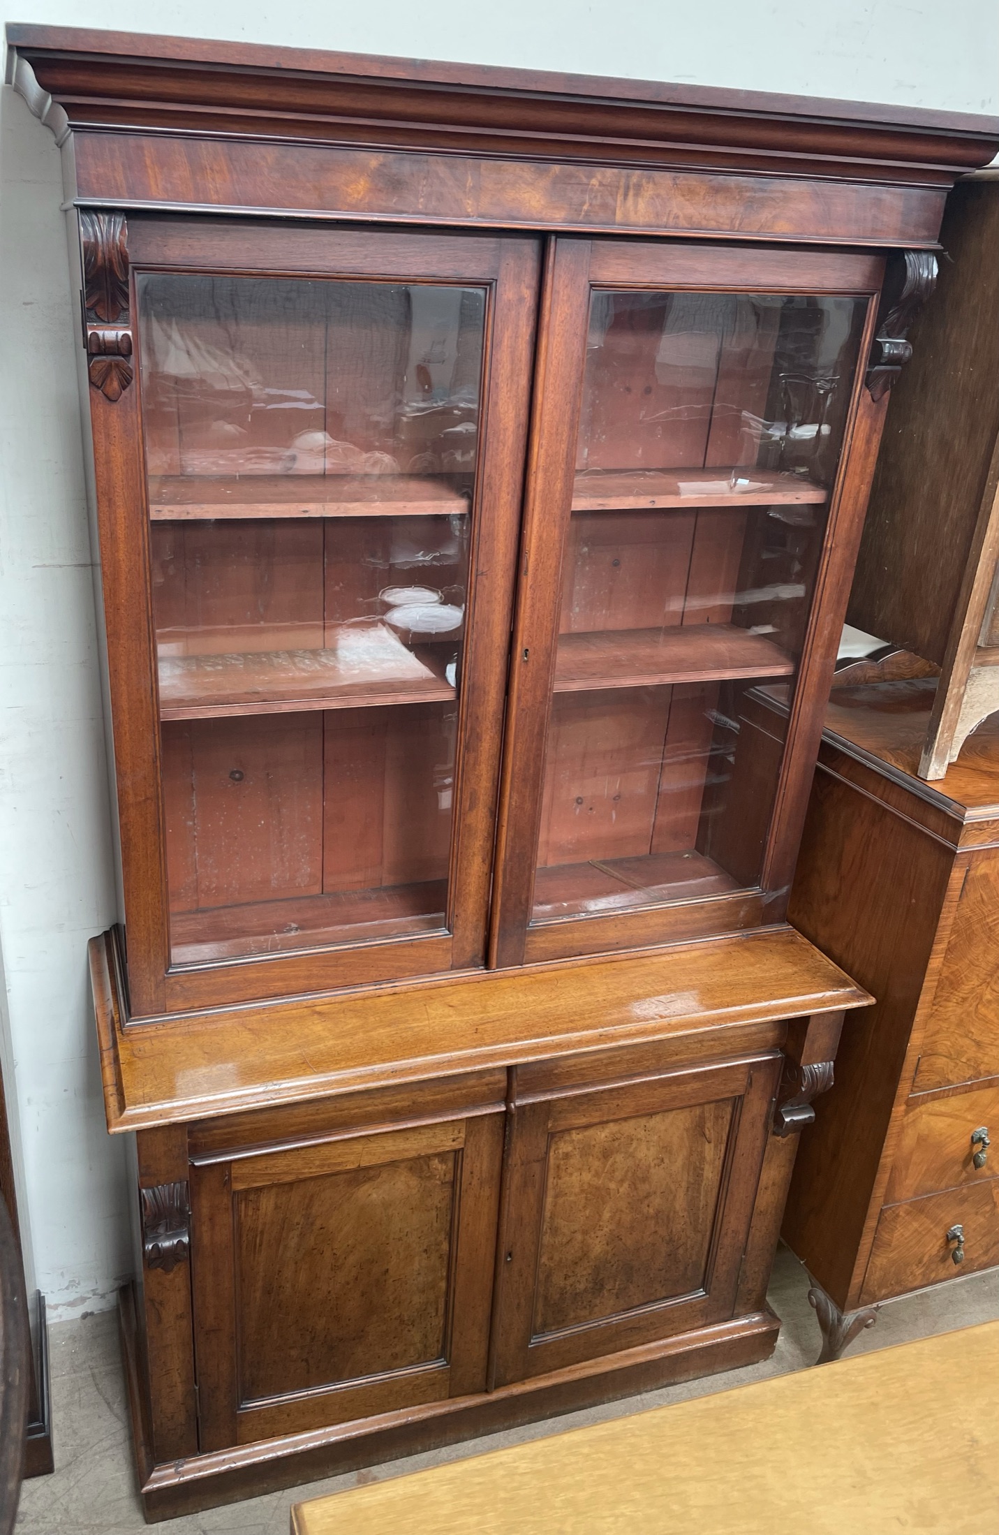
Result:
{"label": "clear glass pane of the bookcase's left upper door", "polygon": [[172,961],[442,930],[485,290],[138,296]]}

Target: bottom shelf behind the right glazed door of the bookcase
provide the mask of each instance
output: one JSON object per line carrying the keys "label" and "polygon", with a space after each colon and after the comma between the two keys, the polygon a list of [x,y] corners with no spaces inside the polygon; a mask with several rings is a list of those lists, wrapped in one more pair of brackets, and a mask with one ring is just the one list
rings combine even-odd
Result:
{"label": "bottom shelf behind the right glazed door of the bookcase", "polygon": [[694,901],[738,890],[738,883],[711,858],[691,849],[683,853],[648,853],[637,858],[594,858],[554,864],[534,876],[532,921],[594,916],[600,912]]}

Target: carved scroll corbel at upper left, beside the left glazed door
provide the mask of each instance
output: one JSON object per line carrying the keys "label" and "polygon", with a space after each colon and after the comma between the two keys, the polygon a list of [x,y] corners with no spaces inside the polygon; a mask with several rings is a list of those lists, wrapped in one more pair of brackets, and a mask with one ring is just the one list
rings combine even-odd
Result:
{"label": "carved scroll corbel at upper left, beside the left glazed door", "polygon": [[134,378],[129,328],[129,252],[123,213],[80,213],[83,246],[83,344],[91,384],[121,399]]}

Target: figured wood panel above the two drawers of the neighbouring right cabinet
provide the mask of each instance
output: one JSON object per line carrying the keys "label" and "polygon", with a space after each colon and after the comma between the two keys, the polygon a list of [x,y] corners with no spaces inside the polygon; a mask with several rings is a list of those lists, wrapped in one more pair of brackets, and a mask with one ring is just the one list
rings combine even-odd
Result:
{"label": "figured wood panel above the two drawers of the neighbouring right cabinet", "polygon": [[913,1090],[999,1076],[999,849],[974,853],[922,1036]]}

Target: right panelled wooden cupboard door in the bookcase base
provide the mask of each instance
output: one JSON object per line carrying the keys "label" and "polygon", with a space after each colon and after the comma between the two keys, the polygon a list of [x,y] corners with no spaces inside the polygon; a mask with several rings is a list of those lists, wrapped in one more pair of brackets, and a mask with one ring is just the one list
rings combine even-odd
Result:
{"label": "right panelled wooden cupboard door in the bookcase base", "polygon": [[732,1315],[778,1056],[517,1104],[494,1385]]}

